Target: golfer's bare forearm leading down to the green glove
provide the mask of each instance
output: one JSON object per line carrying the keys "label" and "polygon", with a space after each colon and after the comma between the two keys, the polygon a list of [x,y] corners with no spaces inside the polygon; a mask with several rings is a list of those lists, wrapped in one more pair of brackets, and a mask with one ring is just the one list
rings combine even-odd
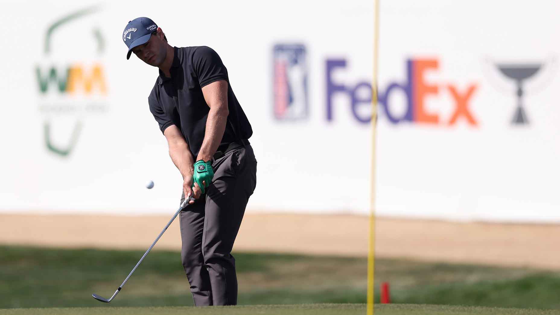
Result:
{"label": "golfer's bare forearm leading down to the green glove", "polygon": [[225,106],[213,106],[208,112],[204,141],[200,147],[197,161],[209,161],[216,153],[222,141],[223,132],[226,130],[227,115],[227,104]]}

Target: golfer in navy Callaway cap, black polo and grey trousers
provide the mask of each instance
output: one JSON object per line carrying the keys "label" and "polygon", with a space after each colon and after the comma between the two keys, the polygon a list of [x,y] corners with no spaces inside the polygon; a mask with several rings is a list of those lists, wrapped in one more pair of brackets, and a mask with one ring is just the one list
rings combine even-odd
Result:
{"label": "golfer in navy Callaway cap, black polo and grey trousers", "polygon": [[148,104],[183,175],[181,202],[195,199],[179,216],[181,260],[194,304],[235,305],[231,249],[256,186],[251,124],[212,48],[171,47],[147,17],[129,21],[123,41],[127,59],[134,53],[159,68]]}

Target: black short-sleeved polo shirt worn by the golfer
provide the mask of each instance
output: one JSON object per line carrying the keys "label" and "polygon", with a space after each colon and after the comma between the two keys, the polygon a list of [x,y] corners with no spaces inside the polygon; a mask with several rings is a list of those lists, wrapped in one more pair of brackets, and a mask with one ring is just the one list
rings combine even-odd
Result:
{"label": "black short-sleeved polo shirt worn by the golfer", "polygon": [[166,77],[160,70],[160,76],[148,96],[150,111],[160,124],[161,132],[172,124],[177,126],[196,159],[204,140],[210,110],[204,100],[202,87],[218,80],[226,80],[230,114],[227,116],[220,147],[251,137],[253,129],[231,89],[227,69],[220,56],[206,46],[174,49],[171,77]]}

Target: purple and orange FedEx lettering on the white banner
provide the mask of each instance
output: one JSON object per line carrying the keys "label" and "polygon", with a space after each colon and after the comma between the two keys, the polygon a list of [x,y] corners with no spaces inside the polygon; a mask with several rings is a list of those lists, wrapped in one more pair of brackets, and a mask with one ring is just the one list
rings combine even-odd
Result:
{"label": "purple and orange FedEx lettering on the white banner", "polygon": [[[370,115],[363,115],[358,112],[358,106],[371,104],[372,93],[364,96],[358,90],[368,88],[371,91],[370,82],[358,82],[356,86],[347,86],[341,82],[333,81],[333,71],[337,68],[346,68],[346,59],[327,59],[326,61],[326,119],[333,120],[333,96],[336,93],[346,94],[350,100],[352,114],[357,121],[369,123]],[[424,75],[428,71],[437,71],[437,59],[408,59],[407,77],[404,82],[390,82],[385,90],[380,90],[377,99],[379,106],[384,109],[389,122],[398,124],[401,122],[414,122],[422,124],[434,124],[452,126],[459,119],[464,119],[471,126],[478,126],[475,115],[469,109],[469,101],[477,90],[476,84],[469,84],[464,89],[446,84],[431,85],[426,82]],[[406,96],[406,110],[404,114],[395,114],[391,110],[389,96],[395,91],[402,91]],[[429,112],[426,108],[426,96],[438,95],[442,90],[450,93],[454,100],[455,109],[449,120],[443,121],[441,113]]]}

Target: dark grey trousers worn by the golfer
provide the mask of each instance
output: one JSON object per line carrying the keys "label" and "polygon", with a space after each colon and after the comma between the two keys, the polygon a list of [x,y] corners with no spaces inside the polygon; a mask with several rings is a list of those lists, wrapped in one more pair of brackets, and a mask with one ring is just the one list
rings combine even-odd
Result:
{"label": "dark grey trousers worn by the golfer", "polygon": [[206,194],[180,213],[181,261],[194,305],[235,305],[237,275],[231,249],[256,186],[253,148],[227,152],[212,168],[214,178]]}

